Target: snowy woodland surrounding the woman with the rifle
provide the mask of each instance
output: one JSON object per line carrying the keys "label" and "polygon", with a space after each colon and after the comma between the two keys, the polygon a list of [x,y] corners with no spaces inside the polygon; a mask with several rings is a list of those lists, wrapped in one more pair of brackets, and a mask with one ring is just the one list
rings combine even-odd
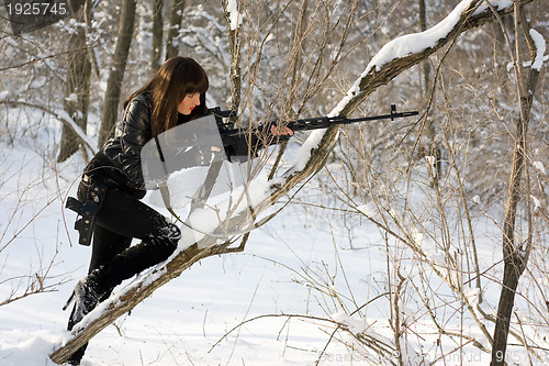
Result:
{"label": "snowy woodland surrounding the woman with the rifle", "polygon": [[[548,11],[101,0],[20,35],[0,12],[0,365],[56,365],[108,311],[82,365],[549,365]],[[208,104],[245,127],[419,113],[264,151],[244,230],[190,218],[198,231],[182,228],[168,260],[68,332],[61,308],[91,248],[65,203],[122,101],[172,52],[200,60]],[[188,176],[170,179],[184,201]],[[158,191],[144,202],[170,217]],[[197,243],[214,255],[175,265]]]}

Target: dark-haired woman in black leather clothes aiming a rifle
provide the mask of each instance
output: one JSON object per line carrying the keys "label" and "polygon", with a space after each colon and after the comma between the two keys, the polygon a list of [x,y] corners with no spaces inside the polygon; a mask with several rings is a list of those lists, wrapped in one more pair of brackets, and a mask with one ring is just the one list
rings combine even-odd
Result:
{"label": "dark-haired woman in black leather clothes aiming a rifle", "polygon": [[[141,149],[155,135],[206,113],[204,69],[192,58],[168,59],[150,81],[124,103],[116,137],[86,167],[78,188],[83,203],[98,201],[89,275],[75,287],[71,330],[124,279],[166,260],[177,248],[179,229],[141,201],[145,196]],[[139,244],[130,246],[132,240]],[[80,365],[86,346],[69,358]]]}

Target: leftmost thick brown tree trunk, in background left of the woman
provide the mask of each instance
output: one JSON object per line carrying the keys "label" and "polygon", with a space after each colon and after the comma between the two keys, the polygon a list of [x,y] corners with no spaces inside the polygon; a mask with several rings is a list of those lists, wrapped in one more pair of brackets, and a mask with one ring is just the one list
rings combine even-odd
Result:
{"label": "leftmost thick brown tree trunk, in background left of the woman", "polygon": [[[85,22],[83,10],[77,13],[77,22]],[[69,52],[67,59],[67,82],[65,84],[64,110],[83,130],[88,125],[88,107],[90,104],[91,63],[86,49],[86,29],[77,26],[68,40],[69,47],[77,49]],[[68,126],[63,126],[61,146],[57,162],[65,162],[80,147],[80,140]]]}

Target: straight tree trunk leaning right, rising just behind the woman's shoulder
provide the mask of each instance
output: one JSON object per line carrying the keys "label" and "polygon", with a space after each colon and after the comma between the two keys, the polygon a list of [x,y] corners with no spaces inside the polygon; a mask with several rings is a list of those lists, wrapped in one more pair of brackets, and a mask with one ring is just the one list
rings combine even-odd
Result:
{"label": "straight tree trunk leaning right, rising just behind the woman's shoulder", "polygon": [[124,71],[126,69],[127,54],[132,44],[135,20],[135,0],[124,0],[122,4],[122,13],[120,15],[119,34],[116,40],[116,48],[113,55],[113,65],[109,74],[107,82],[107,92],[103,104],[103,113],[101,115],[101,127],[99,130],[99,147],[114,134],[116,125],[120,91]]}

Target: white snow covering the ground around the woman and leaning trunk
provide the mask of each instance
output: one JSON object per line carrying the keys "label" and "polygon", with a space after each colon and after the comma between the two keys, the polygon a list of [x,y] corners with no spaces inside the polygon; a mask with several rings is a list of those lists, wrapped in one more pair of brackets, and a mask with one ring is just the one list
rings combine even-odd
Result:
{"label": "white snow covering the ground around the woman and leaning trunk", "polygon": [[[0,222],[13,222],[13,218],[18,218],[18,224],[9,231],[1,226],[2,232],[5,231],[4,237],[13,236],[13,240],[7,251],[0,253],[0,301],[12,291],[21,291],[25,282],[18,277],[25,274],[32,278],[45,276],[41,268],[48,263],[53,265],[44,285],[55,285],[55,291],[0,306],[0,359],[8,366],[53,366],[48,354],[70,336],[65,331],[68,312],[63,312],[61,307],[75,281],[86,275],[90,256],[89,247],[76,244],[72,213],[63,210],[64,199],[75,195],[83,162],[76,156],[57,166],[55,174],[44,170],[43,157],[30,148],[0,151],[7,167],[5,176],[16,177],[0,181],[2,195],[5,195],[0,203]],[[415,195],[419,192],[414,193],[414,199],[407,204],[422,215],[421,206],[425,202]],[[260,200],[265,191],[261,188],[251,197]],[[370,217],[380,214],[373,202],[357,209]],[[399,212],[393,214],[397,217]],[[195,264],[156,290],[131,315],[117,320],[115,326],[101,331],[90,342],[83,365],[311,365],[317,358],[322,361],[321,365],[371,365],[378,359],[376,354],[365,348],[357,337],[383,340],[390,347],[394,342],[388,324],[390,309],[386,298],[377,298],[386,291],[379,284],[385,281],[386,249],[394,244],[379,246],[377,226],[363,221],[354,225],[350,233],[363,248],[349,251],[346,244],[349,233],[343,230],[341,218],[323,217],[323,212],[310,215],[304,214],[299,206],[287,207],[271,222],[251,232],[244,253],[211,257]],[[480,255],[486,266],[483,269],[490,270],[486,275],[497,277],[498,267],[491,264],[497,263],[498,244],[490,239],[500,236],[497,224],[477,219],[474,225],[482,251]],[[442,266],[446,257],[430,239],[435,230],[426,232],[428,228],[428,222],[418,223],[417,228],[411,229],[410,235],[429,260]],[[184,243],[180,243],[180,248],[191,244],[193,239],[190,237],[192,235],[183,230]],[[2,245],[4,243],[3,240]],[[401,263],[406,284],[417,279],[414,263],[415,259]],[[317,273],[315,268],[322,269]],[[160,264],[139,274],[119,287],[109,301],[116,302],[123,291],[138,286],[142,280],[154,280],[163,270]],[[326,285],[323,285],[322,277],[317,277],[324,271],[330,278]],[[343,271],[345,276],[337,275]],[[460,280],[455,274],[449,274],[449,277],[452,281]],[[311,282],[306,278],[315,280]],[[447,296],[441,284],[434,279],[430,282],[437,288],[438,296]],[[318,287],[318,292],[312,284]],[[489,282],[483,284],[489,286]],[[352,288],[352,296],[349,288]],[[488,298],[492,306],[497,303],[494,289],[483,292],[484,301]],[[469,302],[479,301],[477,288],[466,287],[463,292]],[[326,306],[322,293],[339,297],[341,303]],[[371,301],[368,311],[351,314],[344,309],[354,309],[346,300],[350,297],[358,304]],[[109,301],[88,314],[82,324],[104,311]],[[422,357],[436,359],[428,354],[419,356],[422,352],[426,353],[422,351],[424,348],[437,350],[438,346],[432,345],[439,337],[436,331],[417,321],[419,304],[407,298],[400,299],[399,304],[407,326],[425,339],[422,342],[403,339],[406,357],[411,362]],[[258,319],[251,320],[256,317]],[[307,317],[324,318],[325,321]],[[238,328],[247,320],[250,321]],[[463,321],[467,326],[473,326],[459,317],[451,317],[446,326],[459,329]],[[336,323],[345,324],[350,333],[340,334],[343,343],[334,342],[322,353]],[[477,336],[482,341],[482,336]],[[355,351],[346,348],[346,344]],[[480,354],[474,347],[464,350],[464,356],[474,361],[470,365],[486,364],[488,355]],[[381,364],[390,364],[391,358],[385,361]]]}

